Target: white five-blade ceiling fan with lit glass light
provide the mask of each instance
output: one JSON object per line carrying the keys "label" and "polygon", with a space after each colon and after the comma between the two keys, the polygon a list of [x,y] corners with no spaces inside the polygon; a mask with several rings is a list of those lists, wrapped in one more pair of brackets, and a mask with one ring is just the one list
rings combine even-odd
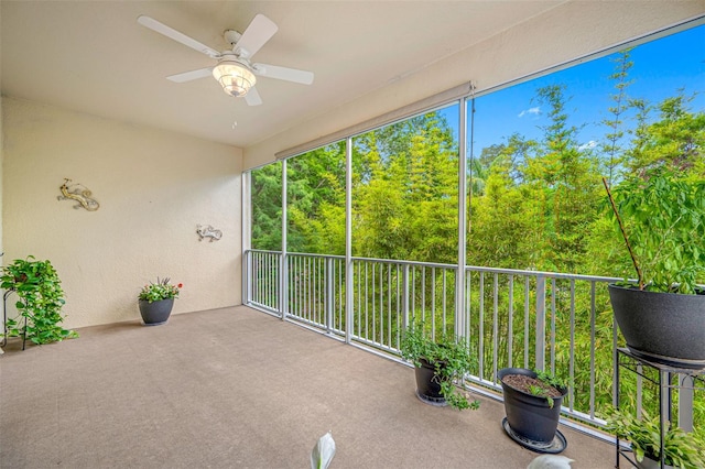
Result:
{"label": "white five-blade ceiling fan with lit glass light", "polygon": [[223,35],[226,43],[230,44],[231,48],[223,52],[208,47],[195,39],[189,37],[166,24],[160,23],[153,18],[140,15],[137,21],[152,31],[163,34],[169,39],[180,42],[185,46],[218,61],[218,63],[213,67],[199,68],[197,70],[167,76],[166,79],[171,81],[184,83],[213,75],[218,83],[220,83],[227,95],[245,97],[245,100],[249,106],[258,106],[262,103],[262,99],[254,88],[254,83],[257,81],[256,76],[283,79],[303,85],[311,85],[313,83],[312,72],[280,67],[276,65],[250,63],[250,58],[279,30],[276,24],[263,14],[257,14],[242,34],[232,30],[225,31]]}

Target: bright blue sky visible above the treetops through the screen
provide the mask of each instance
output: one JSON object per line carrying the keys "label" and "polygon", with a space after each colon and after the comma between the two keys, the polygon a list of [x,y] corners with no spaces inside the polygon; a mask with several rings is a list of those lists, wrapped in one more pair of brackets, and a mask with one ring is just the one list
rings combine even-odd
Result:
{"label": "bright blue sky visible above the treetops through the screen", "polygon": [[[545,107],[534,97],[535,90],[546,85],[567,87],[564,96],[570,98],[565,106],[571,116],[568,124],[583,126],[581,144],[600,140],[606,130],[599,122],[609,117],[608,107],[614,106],[610,95],[616,90],[609,75],[615,70],[615,63],[610,61],[615,55],[478,97],[475,155],[479,156],[484,146],[502,143],[513,132],[539,138],[540,127],[546,126],[549,120]],[[696,94],[691,109],[705,111],[705,25],[639,45],[631,51],[631,62],[629,76],[633,83],[627,90],[630,98],[658,103],[684,88],[686,95]],[[448,122],[457,128],[457,111],[455,107],[453,109]]]}

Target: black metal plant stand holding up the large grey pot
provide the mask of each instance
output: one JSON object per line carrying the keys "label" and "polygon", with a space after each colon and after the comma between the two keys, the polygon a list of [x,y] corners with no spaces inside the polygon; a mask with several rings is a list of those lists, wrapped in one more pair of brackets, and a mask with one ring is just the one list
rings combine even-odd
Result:
{"label": "black metal plant stand holding up the large grey pot", "polygon": [[[633,355],[629,349],[618,348],[615,352],[615,380],[616,380],[616,394],[615,394],[615,407],[619,410],[619,393],[620,393],[620,382],[619,382],[619,373],[620,369],[629,370],[634,372],[638,377],[658,385],[659,388],[659,427],[660,427],[660,467],[663,468],[664,465],[664,455],[663,455],[663,444],[665,437],[665,428],[669,422],[671,422],[671,411],[673,404],[673,390],[705,390],[705,368],[702,369],[692,369],[692,368],[679,368],[671,367],[663,363],[658,363],[653,361],[646,360],[641,357]],[[650,368],[657,371],[658,378],[654,379],[653,374],[649,375],[643,368]],[[680,379],[679,379],[680,377]],[[675,379],[675,384],[673,383]],[[687,384],[690,382],[692,384]],[[679,422],[679,425],[687,430],[692,430],[692,415],[690,422]],[[619,468],[620,456],[631,462],[633,466],[637,466],[633,459],[631,459],[630,455],[632,451],[627,448],[622,448],[619,443],[619,437],[615,437],[615,448],[616,448],[616,468]]]}

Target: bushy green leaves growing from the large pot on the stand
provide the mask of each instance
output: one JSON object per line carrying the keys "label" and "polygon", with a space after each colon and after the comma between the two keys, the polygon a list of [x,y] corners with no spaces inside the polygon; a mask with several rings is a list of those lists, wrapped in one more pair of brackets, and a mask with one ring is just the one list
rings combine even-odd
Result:
{"label": "bushy green leaves growing from the large pot on the stand", "polygon": [[605,188],[639,288],[697,293],[705,279],[705,181],[657,167],[621,182],[615,198],[606,182]]}

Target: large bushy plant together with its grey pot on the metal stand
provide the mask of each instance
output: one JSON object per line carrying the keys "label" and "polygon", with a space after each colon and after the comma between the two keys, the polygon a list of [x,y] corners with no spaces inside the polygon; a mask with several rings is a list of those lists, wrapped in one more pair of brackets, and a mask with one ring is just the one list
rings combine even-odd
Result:
{"label": "large bushy plant together with its grey pot on the metal stand", "polygon": [[666,168],[621,182],[611,214],[637,272],[609,285],[627,347],[651,361],[705,367],[705,181]]}

